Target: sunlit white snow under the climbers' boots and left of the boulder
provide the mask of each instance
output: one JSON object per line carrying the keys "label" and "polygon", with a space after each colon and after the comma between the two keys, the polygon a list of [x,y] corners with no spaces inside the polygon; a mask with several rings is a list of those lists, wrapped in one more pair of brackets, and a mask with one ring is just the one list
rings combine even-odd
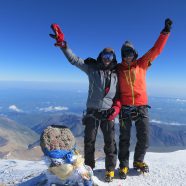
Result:
{"label": "sunlit white snow under the climbers' boots and left of the boulder", "polygon": [[[151,153],[146,155],[150,173],[138,175],[132,169],[132,157],[130,158],[130,172],[126,180],[120,180],[117,170],[112,183],[104,182],[104,159],[97,160],[93,180],[100,186],[185,186],[186,185],[186,150],[171,153]],[[119,164],[119,162],[118,162]],[[117,168],[118,168],[117,164]],[[0,160],[0,185],[36,185],[42,180],[41,172],[45,172],[47,166],[43,161]]]}

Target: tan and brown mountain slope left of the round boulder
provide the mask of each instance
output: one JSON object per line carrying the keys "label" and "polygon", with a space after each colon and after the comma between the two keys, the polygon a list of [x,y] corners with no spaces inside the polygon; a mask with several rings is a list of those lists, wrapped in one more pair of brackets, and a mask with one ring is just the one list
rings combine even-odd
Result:
{"label": "tan and brown mountain slope left of the round boulder", "polygon": [[38,139],[39,135],[30,128],[0,116],[0,158],[21,156],[28,145]]}

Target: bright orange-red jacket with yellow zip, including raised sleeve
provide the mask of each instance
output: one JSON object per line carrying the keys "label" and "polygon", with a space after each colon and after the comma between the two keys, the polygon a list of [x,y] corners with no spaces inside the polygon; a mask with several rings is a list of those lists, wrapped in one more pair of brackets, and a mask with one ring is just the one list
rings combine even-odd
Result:
{"label": "bright orange-red jacket with yellow zip, including raised sleeve", "polygon": [[154,46],[129,66],[125,61],[117,66],[122,105],[147,105],[146,71],[163,50],[169,34],[160,34]]}

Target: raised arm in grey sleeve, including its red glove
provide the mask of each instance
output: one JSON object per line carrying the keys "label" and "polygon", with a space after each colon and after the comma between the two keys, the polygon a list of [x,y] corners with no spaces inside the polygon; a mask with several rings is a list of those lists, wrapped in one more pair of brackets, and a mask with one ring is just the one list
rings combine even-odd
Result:
{"label": "raised arm in grey sleeve, including its red glove", "polygon": [[52,24],[51,28],[55,33],[55,35],[50,34],[50,36],[56,40],[56,43],[54,45],[60,47],[60,49],[63,51],[64,55],[72,65],[75,65],[85,73],[88,73],[88,65],[84,63],[84,60],[82,58],[77,57],[68,47],[67,42],[64,40],[64,33],[60,29],[59,25]]}

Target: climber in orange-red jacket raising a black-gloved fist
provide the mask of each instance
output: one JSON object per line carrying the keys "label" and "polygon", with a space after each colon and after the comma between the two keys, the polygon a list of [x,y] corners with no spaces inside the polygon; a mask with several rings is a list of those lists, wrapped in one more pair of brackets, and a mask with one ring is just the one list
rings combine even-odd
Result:
{"label": "climber in orange-red jacket raising a black-gloved fist", "polygon": [[149,118],[148,100],[146,92],[146,72],[153,60],[163,50],[169,37],[172,21],[165,20],[165,27],[161,31],[154,46],[141,58],[133,45],[126,41],[121,48],[122,63],[117,67],[120,89],[120,140],[119,160],[120,177],[125,179],[129,170],[129,145],[132,121],[135,122],[137,144],[134,152],[133,166],[143,172],[148,172],[148,165],[144,162],[146,150],[149,146]]}

